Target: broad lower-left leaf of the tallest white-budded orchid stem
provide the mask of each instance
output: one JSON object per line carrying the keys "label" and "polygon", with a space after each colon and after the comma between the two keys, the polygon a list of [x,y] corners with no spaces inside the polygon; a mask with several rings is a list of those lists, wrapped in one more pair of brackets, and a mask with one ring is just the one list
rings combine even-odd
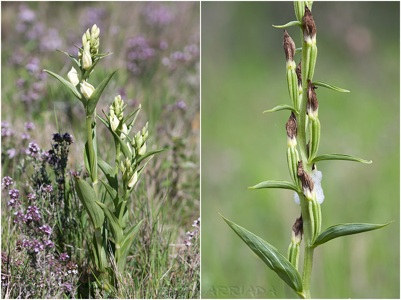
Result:
{"label": "broad lower-left leaf of the tallest white-budded orchid stem", "polygon": [[79,200],[85,207],[92,224],[95,228],[102,228],[104,222],[104,213],[95,203],[97,201],[95,190],[85,180],[75,177],[75,190]]}

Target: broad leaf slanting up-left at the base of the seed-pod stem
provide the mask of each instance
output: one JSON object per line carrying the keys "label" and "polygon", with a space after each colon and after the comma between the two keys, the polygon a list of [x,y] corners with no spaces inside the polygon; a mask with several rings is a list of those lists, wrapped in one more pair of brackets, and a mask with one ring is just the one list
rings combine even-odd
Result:
{"label": "broad leaf slanting up-left at the base of the seed-pod stem", "polygon": [[[221,216],[221,215],[220,215]],[[272,245],[257,237],[253,233],[238,226],[221,216],[232,230],[245,242],[246,245],[277,275],[293,289],[302,295],[302,279],[293,265]]]}

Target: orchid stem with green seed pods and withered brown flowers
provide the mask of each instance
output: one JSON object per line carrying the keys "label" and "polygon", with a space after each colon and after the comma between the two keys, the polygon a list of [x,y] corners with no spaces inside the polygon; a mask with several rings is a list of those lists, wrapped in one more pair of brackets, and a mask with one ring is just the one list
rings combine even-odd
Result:
{"label": "orchid stem with green seed pods and withered brown flowers", "polygon": [[[284,188],[295,192],[294,200],[300,205],[300,217],[292,227],[291,242],[287,257],[279,250],[255,236],[244,228],[225,219],[234,232],[259,256],[259,258],[289,286],[301,299],[310,299],[310,282],[313,254],[319,245],[334,238],[382,228],[390,223],[366,224],[349,223],[330,226],[321,232],[322,213],[320,205],[324,200],[321,186],[322,173],[316,163],[324,160],[350,160],[372,163],[346,154],[317,155],[320,141],[320,121],[318,118],[319,103],[315,90],[318,86],[339,92],[349,92],[322,81],[312,81],[316,57],[316,25],[311,13],[313,1],[294,1],[297,20],[278,28],[299,26],[301,28],[302,47],[296,48],[293,39],[284,29],[283,47],[286,57],[286,78],[292,105],[282,104],[266,112],[289,110],[291,115],[286,123],[287,162],[292,182],[268,180],[249,187]],[[298,65],[294,61],[295,53],[301,53]],[[309,142],[308,142],[309,140]],[[297,150],[299,147],[299,151]],[[298,272],[300,244],[304,238],[305,256],[302,276]]]}

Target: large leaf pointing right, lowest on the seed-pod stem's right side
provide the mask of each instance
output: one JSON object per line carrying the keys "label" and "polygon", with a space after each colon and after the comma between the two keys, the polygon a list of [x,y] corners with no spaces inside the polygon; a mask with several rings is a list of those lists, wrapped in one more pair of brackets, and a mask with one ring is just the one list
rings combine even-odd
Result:
{"label": "large leaf pointing right, lowest on the seed-pod stem's right side", "polygon": [[337,224],[327,228],[323,231],[319,236],[316,238],[315,242],[313,243],[312,247],[319,246],[323,243],[326,243],[332,239],[338,238],[340,236],[350,235],[361,233],[365,231],[371,231],[375,229],[379,229],[393,223],[391,221],[387,224],[366,224],[366,223],[348,223],[348,224]]}

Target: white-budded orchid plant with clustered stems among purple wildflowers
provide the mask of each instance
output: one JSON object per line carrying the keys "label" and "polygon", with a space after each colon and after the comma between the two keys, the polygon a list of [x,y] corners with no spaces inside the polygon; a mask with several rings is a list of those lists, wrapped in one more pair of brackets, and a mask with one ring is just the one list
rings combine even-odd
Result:
{"label": "white-budded orchid plant with clustered stems among purple wildflowers", "polygon": [[[106,292],[116,292],[118,276],[124,274],[127,257],[133,242],[138,235],[144,220],[139,221],[131,228],[128,224],[128,201],[135,185],[141,177],[146,165],[153,154],[163,150],[147,152],[146,141],[149,139],[148,122],[139,130],[130,134],[141,106],[124,116],[124,100],[118,95],[109,106],[109,112],[103,111],[104,118],[96,114],[96,105],[106,85],[115,72],[108,75],[95,88],[89,83],[90,74],[99,61],[112,53],[99,53],[100,29],[94,24],[82,35],[82,47],[78,47],[78,58],[64,51],[73,61],[78,71],[72,67],[67,74],[68,80],[62,76],[43,70],[58,79],[82,104],[86,113],[87,142],[83,149],[83,160],[91,184],[75,176],[75,190],[88,213],[93,226],[92,247],[94,261],[98,269],[97,281]],[[79,90],[76,86],[79,84]],[[97,145],[96,119],[100,120],[110,131],[114,139],[116,158],[109,165],[101,158],[101,148]],[[131,121],[129,121],[131,120]],[[121,154],[125,159],[120,160]],[[142,163],[142,161],[145,161]],[[98,177],[98,167],[104,173],[105,179]],[[121,176],[119,176],[121,172]],[[99,181],[104,190],[99,191]],[[113,208],[104,203],[108,194],[113,202]],[[109,234],[111,233],[111,234]]]}

